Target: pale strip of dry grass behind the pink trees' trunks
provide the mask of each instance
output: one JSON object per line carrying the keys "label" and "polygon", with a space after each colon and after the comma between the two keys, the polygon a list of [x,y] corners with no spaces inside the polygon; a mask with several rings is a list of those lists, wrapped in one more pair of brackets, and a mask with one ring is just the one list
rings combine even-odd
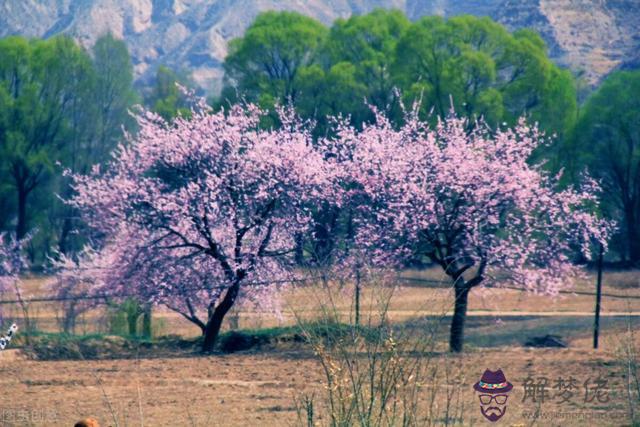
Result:
{"label": "pale strip of dry grass behind the pink trees' trunks", "polygon": [[[403,272],[404,277],[420,278],[425,280],[445,280],[437,269]],[[606,272],[603,281],[602,312],[627,313],[628,311],[640,312],[640,272]],[[47,295],[44,289],[46,278],[31,278],[25,280],[25,294],[30,297],[43,297]],[[531,295],[511,289],[475,289],[469,296],[470,315],[484,314],[492,317],[518,315],[528,313],[566,313],[575,315],[591,313],[594,307],[595,276],[589,275],[588,280],[577,282],[572,291],[576,293],[563,293],[556,297],[546,295]],[[349,313],[353,304],[353,289],[347,285],[336,301],[336,308],[343,313],[345,321],[349,320]],[[366,287],[363,289],[363,301],[373,301]],[[296,323],[294,313],[313,319],[319,314],[317,311],[317,288],[314,286],[294,286],[283,290],[282,316],[276,317],[269,313],[256,312],[252,307],[239,308],[237,314],[237,327],[262,328],[273,326],[286,326]],[[631,299],[617,298],[609,295],[631,296]],[[5,296],[8,298],[9,296]],[[404,284],[394,293],[388,310],[389,319],[395,322],[407,321],[430,314],[441,314],[452,308],[453,295],[451,289],[446,287],[416,286]],[[37,328],[42,331],[56,332],[59,330],[56,322],[56,303],[32,303],[30,305],[31,316],[35,320]],[[374,307],[363,304],[363,312],[371,311]],[[3,308],[6,318],[21,317],[17,305],[8,305]],[[199,329],[185,321],[180,315],[159,308],[155,311],[156,334],[176,334],[181,336],[194,336]],[[227,322],[229,323],[229,322]],[[106,322],[103,310],[93,310],[79,319],[77,333],[104,333]]]}

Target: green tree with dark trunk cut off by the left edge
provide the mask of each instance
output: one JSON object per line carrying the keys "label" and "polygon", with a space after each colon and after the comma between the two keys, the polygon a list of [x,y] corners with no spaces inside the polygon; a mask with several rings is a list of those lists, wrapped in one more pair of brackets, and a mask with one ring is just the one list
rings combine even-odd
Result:
{"label": "green tree with dark trunk cut off by the left edge", "polygon": [[[62,160],[73,130],[68,113],[89,69],[86,52],[66,37],[0,40],[0,110],[5,117],[0,161],[16,200],[18,238],[30,227],[30,199]],[[50,197],[43,193],[38,197]]]}

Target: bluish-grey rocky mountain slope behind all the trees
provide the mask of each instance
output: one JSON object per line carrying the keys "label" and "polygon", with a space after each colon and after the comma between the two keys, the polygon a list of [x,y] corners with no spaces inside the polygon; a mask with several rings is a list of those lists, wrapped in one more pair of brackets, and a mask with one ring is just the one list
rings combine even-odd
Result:
{"label": "bluish-grey rocky mountain slope behind all the trees", "polygon": [[616,67],[636,67],[640,0],[0,0],[0,37],[70,34],[90,46],[110,31],[126,40],[138,79],[159,64],[219,88],[227,42],[265,10],[293,10],[330,24],[374,8],[424,15],[490,16],[510,29],[533,28],[561,65],[596,83]]}

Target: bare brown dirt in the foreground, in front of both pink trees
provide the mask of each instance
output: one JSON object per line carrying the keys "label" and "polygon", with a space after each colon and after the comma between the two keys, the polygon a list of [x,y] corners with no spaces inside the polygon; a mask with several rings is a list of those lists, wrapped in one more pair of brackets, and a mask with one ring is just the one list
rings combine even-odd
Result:
{"label": "bare brown dirt in the foreground, in front of both pink trees", "polygon": [[[515,386],[502,425],[573,426],[586,422],[614,426],[629,422],[622,395],[622,367],[612,352],[593,352],[586,341],[572,343],[571,349],[492,348],[440,357],[441,363],[462,373],[455,387],[465,407],[464,425],[484,424],[472,385],[485,368],[503,369]],[[81,362],[11,358],[11,352],[0,358],[2,425],[30,425],[17,422],[20,411],[34,414],[33,425],[48,426],[71,426],[86,416],[112,426],[294,425],[296,397],[304,393],[320,397],[324,390],[319,365],[300,352]],[[533,424],[525,418],[526,411],[536,409],[530,400],[522,402],[528,375],[547,377],[551,396],[556,378],[573,376],[579,380],[575,404],[547,401],[541,406],[545,414],[551,414],[545,416],[558,417],[553,414],[559,412],[568,414],[562,415],[565,418],[541,419]],[[608,380],[609,402],[583,403],[583,381],[598,376]],[[444,405],[446,387],[440,388],[438,401]],[[48,418],[41,422],[35,414]],[[600,416],[606,418],[596,418]]]}

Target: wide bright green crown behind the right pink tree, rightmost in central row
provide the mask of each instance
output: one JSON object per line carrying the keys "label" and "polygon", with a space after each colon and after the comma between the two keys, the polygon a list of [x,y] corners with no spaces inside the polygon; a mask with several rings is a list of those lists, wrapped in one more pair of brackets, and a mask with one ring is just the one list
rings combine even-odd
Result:
{"label": "wide bright green crown behind the right pink tree, rightmost in central row", "polygon": [[540,36],[511,34],[486,17],[415,22],[398,43],[395,73],[406,96],[423,97],[440,117],[453,102],[458,113],[493,126],[528,115],[558,134],[575,119],[571,74],[549,60]]}

